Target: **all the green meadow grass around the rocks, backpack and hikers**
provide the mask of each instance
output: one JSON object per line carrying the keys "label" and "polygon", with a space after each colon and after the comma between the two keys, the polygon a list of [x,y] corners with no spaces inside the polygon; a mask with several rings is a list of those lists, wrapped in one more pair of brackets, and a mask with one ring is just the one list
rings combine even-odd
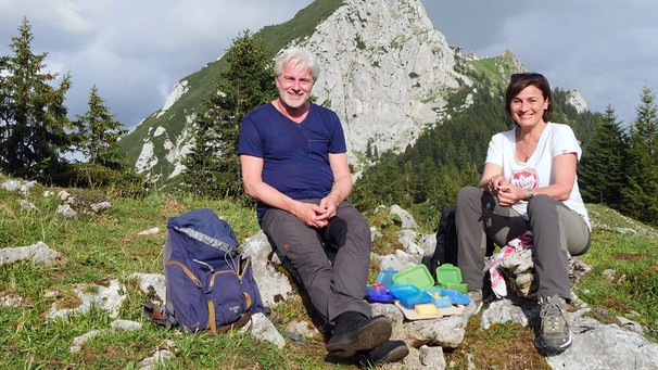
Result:
{"label": "all the green meadow grass around the rocks, backpack and hikers", "polygon": [[[8,178],[0,176],[0,183]],[[278,350],[271,344],[257,343],[250,335],[230,332],[212,336],[166,331],[144,322],[141,304],[150,301],[129,277],[134,272],[162,273],[162,246],[166,220],[198,207],[210,207],[227,218],[240,241],[258,230],[253,209],[225,201],[205,201],[190,196],[150,194],[144,199],[110,199],[112,207],[99,215],[75,219],[55,215],[62,203],[56,196],[45,197],[48,190],[36,186],[27,196],[0,190],[0,245],[24,246],[43,241],[63,258],[52,266],[16,263],[0,267],[0,296],[22,297],[16,307],[0,306],[0,368],[7,369],[136,369],[139,361],[156,349],[170,348],[175,358],[162,369],[356,369],[356,366],[325,361],[325,342],[320,335],[305,345],[287,340]],[[55,190],[55,193],[59,190]],[[75,193],[77,190],[69,190]],[[39,210],[21,209],[20,201],[31,202]],[[595,225],[593,245],[582,259],[593,267],[577,285],[575,293],[593,309],[597,319],[616,322],[624,316],[640,322],[646,336],[658,341],[658,243],[656,230],[624,219],[603,206],[589,205]],[[375,253],[392,253],[398,243],[398,227],[382,213],[367,216],[381,229],[383,237],[374,246]],[[605,227],[600,227],[605,226]],[[616,227],[638,230],[621,234]],[[143,230],[160,232],[139,235]],[[431,233],[431,230],[425,230]],[[604,278],[615,270],[611,279]],[[377,267],[370,271],[374,280]],[[140,331],[111,331],[114,320],[100,309],[74,315],[67,320],[47,321],[52,306],[72,308],[79,305],[73,284],[102,284],[119,279],[127,298],[119,311],[121,319],[143,323]],[[56,291],[58,294],[49,294]],[[290,320],[311,321],[302,299],[295,296],[273,307],[279,331]],[[638,315],[633,316],[632,312]],[[91,330],[103,333],[71,353],[76,336]],[[446,350],[448,363],[463,369],[472,354],[476,368],[547,369],[534,350],[531,328],[496,324],[489,331],[479,327],[479,317],[469,321],[463,345]],[[509,344],[501,346],[501,341]]]}

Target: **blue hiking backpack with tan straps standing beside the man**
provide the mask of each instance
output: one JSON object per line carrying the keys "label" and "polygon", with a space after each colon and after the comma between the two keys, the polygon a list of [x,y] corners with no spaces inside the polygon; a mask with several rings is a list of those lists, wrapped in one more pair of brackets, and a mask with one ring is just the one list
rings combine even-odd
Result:
{"label": "blue hiking backpack with tan straps standing beside the man", "polygon": [[226,221],[199,208],[170,217],[167,230],[163,253],[167,295],[159,312],[164,316],[161,323],[220,333],[265,312],[251,258],[241,255]]}

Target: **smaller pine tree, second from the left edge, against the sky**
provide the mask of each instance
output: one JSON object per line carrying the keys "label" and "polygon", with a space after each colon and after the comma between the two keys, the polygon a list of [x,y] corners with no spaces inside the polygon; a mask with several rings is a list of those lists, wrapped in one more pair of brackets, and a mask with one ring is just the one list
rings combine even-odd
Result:
{"label": "smaller pine tree, second from the left edge, against the sky", "polygon": [[122,154],[118,140],[127,130],[110,114],[110,109],[98,94],[96,86],[89,91],[87,105],[89,111],[84,116],[77,115],[74,123],[77,128],[77,149],[90,164],[112,169],[126,167],[127,161]]}

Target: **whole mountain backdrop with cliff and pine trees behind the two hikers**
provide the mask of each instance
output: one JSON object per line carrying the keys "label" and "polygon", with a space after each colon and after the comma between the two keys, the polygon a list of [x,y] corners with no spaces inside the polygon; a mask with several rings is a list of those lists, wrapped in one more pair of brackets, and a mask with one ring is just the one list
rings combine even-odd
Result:
{"label": "whole mountain backdrop with cliff and pine trees behind the two hikers", "polygon": [[[229,98],[236,97],[233,92],[240,90],[237,87],[245,84],[257,87],[254,89],[258,91],[242,90],[248,91],[251,98],[265,97],[254,99],[254,102],[250,100],[251,103],[268,101],[270,97],[262,87],[271,85],[271,76],[265,76],[267,84],[252,84],[258,74],[241,77],[240,73],[248,71],[243,63],[251,63],[253,71],[263,71],[262,65],[271,61],[276,50],[286,44],[284,40],[307,39],[316,28],[329,27],[321,25],[331,18],[352,26],[353,30],[370,30],[369,34],[358,34],[349,50],[337,49],[344,47],[340,43],[344,38],[334,37],[333,33],[319,33],[321,37],[314,43],[318,48],[333,42],[336,52],[330,53],[333,60],[325,61],[325,65],[330,68],[347,65],[344,71],[328,71],[326,75],[333,79],[331,84],[325,80],[324,86],[315,89],[314,99],[318,104],[334,110],[342,104],[342,110],[338,111],[342,114],[346,138],[360,145],[349,150],[356,160],[353,165],[358,175],[351,199],[363,212],[380,204],[398,204],[409,209],[425,227],[431,227],[436,224],[441,208],[455,203],[461,187],[478,181],[490,138],[511,127],[510,119],[504,114],[503,95],[509,76],[526,68],[511,51],[497,58],[477,59],[451,49],[440,34],[427,28],[431,24],[418,9],[401,10],[391,5],[389,13],[376,17],[369,13],[372,9],[367,8],[372,5],[370,3],[350,2],[352,8],[341,8],[345,4],[338,0],[317,1],[300,11],[290,22],[265,27],[255,35],[245,31],[243,37],[235,39],[237,53],[232,60],[228,58],[231,52],[227,51],[225,58],[186,77],[180,88],[198,88],[189,89],[172,105],[145,118],[128,137],[124,137],[123,125],[114,120],[111,110],[94,88],[90,91],[89,112],[73,119],[66,117],[67,107],[63,103],[69,76],[63,76],[59,87],[50,86],[58,76],[41,71],[46,66],[47,54],[31,52],[30,25],[24,20],[18,28],[21,36],[12,38],[15,55],[0,56],[0,85],[5,97],[0,102],[0,148],[3,149],[0,170],[47,184],[110,188],[111,192],[123,195],[191,189],[197,195],[212,193],[231,199],[244,195],[237,153],[230,150],[229,143],[237,138],[241,115],[255,105],[236,110],[232,101],[246,100]],[[350,12],[369,14],[372,20],[363,17],[356,22]],[[331,17],[333,13],[340,13],[340,16]],[[381,49],[368,49],[363,39],[381,36],[379,26],[390,24],[388,21],[401,14],[408,15],[410,20],[406,28],[388,29],[392,41],[384,42]],[[422,27],[416,27],[418,24]],[[405,39],[405,48],[394,37],[400,33],[414,37]],[[434,37],[421,37],[430,34]],[[243,47],[255,53],[249,56],[241,52]],[[351,64],[354,53],[362,58],[360,69],[354,69]],[[385,60],[389,63],[385,68],[382,55],[391,56]],[[422,60],[419,55],[426,56],[425,64],[401,73],[401,65],[407,65],[414,58]],[[231,64],[235,64],[232,69]],[[382,77],[392,75],[396,78]],[[370,82],[362,84],[366,80]],[[436,80],[440,82],[432,85]],[[390,86],[406,89],[387,88]],[[332,95],[331,92],[337,90],[346,93]],[[381,91],[393,93],[381,94]],[[605,114],[579,111],[577,106],[584,105],[579,104],[574,97],[578,98],[577,92],[554,86],[552,120],[570,125],[581,141],[583,156],[578,176],[584,201],[605,204],[637,220],[658,226],[658,107],[654,92],[648,87],[643,89],[636,118],[623,126],[611,106]],[[223,100],[228,103],[226,106],[223,106]],[[370,104],[368,109],[364,109],[366,103]],[[213,111],[213,107],[218,110]],[[417,116],[422,118],[415,122]],[[155,122],[159,117],[163,122]],[[389,120],[382,123],[384,118]],[[405,123],[406,118],[409,122]],[[359,119],[360,126],[357,125]],[[165,125],[165,122],[170,125]],[[360,128],[355,129],[356,126]],[[206,127],[208,131],[220,132],[213,138],[231,138],[232,141],[205,145],[207,138],[199,137],[194,127]],[[387,138],[382,139],[382,132]],[[405,140],[392,143],[388,140],[391,137]],[[224,148],[206,154],[232,164],[230,179],[225,167],[212,167],[205,162],[194,165],[182,163],[188,153],[194,152],[194,142],[206,149]],[[404,149],[407,142],[413,144]],[[366,143],[367,149],[364,150]],[[140,153],[149,151],[150,155],[142,161]],[[71,161],[67,156],[71,152],[80,153],[87,162]],[[162,171],[156,177],[145,177],[139,173],[139,166],[132,166],[132,161],[126,162],[129,157]],[[192,160],[195,157],[190,155]],[[186,168],[188,173],[180,177],[182,180],[174,182],[175,175]],[[212,179],[215,174],[223,180],[230,180],[225,187],[230,188],[229,191],[222,188],[202,192],[194,188],[194,182],[224,187],[224,182]],[[169,189],[159,187],[157,180],[170,181]]]}

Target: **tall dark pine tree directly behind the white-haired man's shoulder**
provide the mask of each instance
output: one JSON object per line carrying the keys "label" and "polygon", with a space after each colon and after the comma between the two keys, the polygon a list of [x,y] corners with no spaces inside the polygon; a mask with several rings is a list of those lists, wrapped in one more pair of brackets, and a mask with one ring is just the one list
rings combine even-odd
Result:
{"label": "tall dark pine tree directly behind the white-haired man's shoulder", "polygon": [[243,197],[237,153],[240,125],[246,113],[276,97],[274,67],[261,39],[249,30],[233,39],[227,69],[216,82],[217,94],[195,120],[194,148],[184,161],[182,181],[193,193],[210,197]]}

